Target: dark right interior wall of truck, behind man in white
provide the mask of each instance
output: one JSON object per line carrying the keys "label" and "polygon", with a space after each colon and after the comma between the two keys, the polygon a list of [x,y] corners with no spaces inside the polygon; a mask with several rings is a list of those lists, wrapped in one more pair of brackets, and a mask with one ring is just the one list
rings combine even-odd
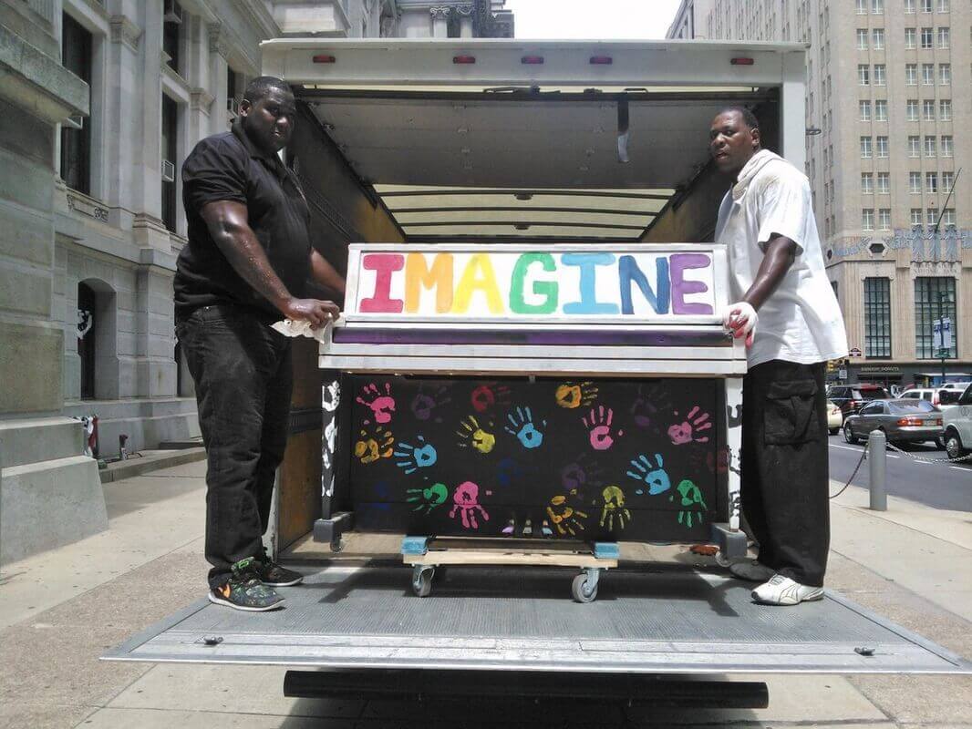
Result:
{"label": "dark right interior wall of truck, behind man in white", "polygon": [[[759,121],[761,144],[764,149],[780,153],[780,107],[774,101],[765,102],[752,110]],[[705,144],[708,129],[700,129],[700,144]],[[632,160],[636,163],[636,160]],[[715,234],[715,218],[719,203],[730,180],[708,164],[677,194],[642,236],[642,243],[710,243]]]}

